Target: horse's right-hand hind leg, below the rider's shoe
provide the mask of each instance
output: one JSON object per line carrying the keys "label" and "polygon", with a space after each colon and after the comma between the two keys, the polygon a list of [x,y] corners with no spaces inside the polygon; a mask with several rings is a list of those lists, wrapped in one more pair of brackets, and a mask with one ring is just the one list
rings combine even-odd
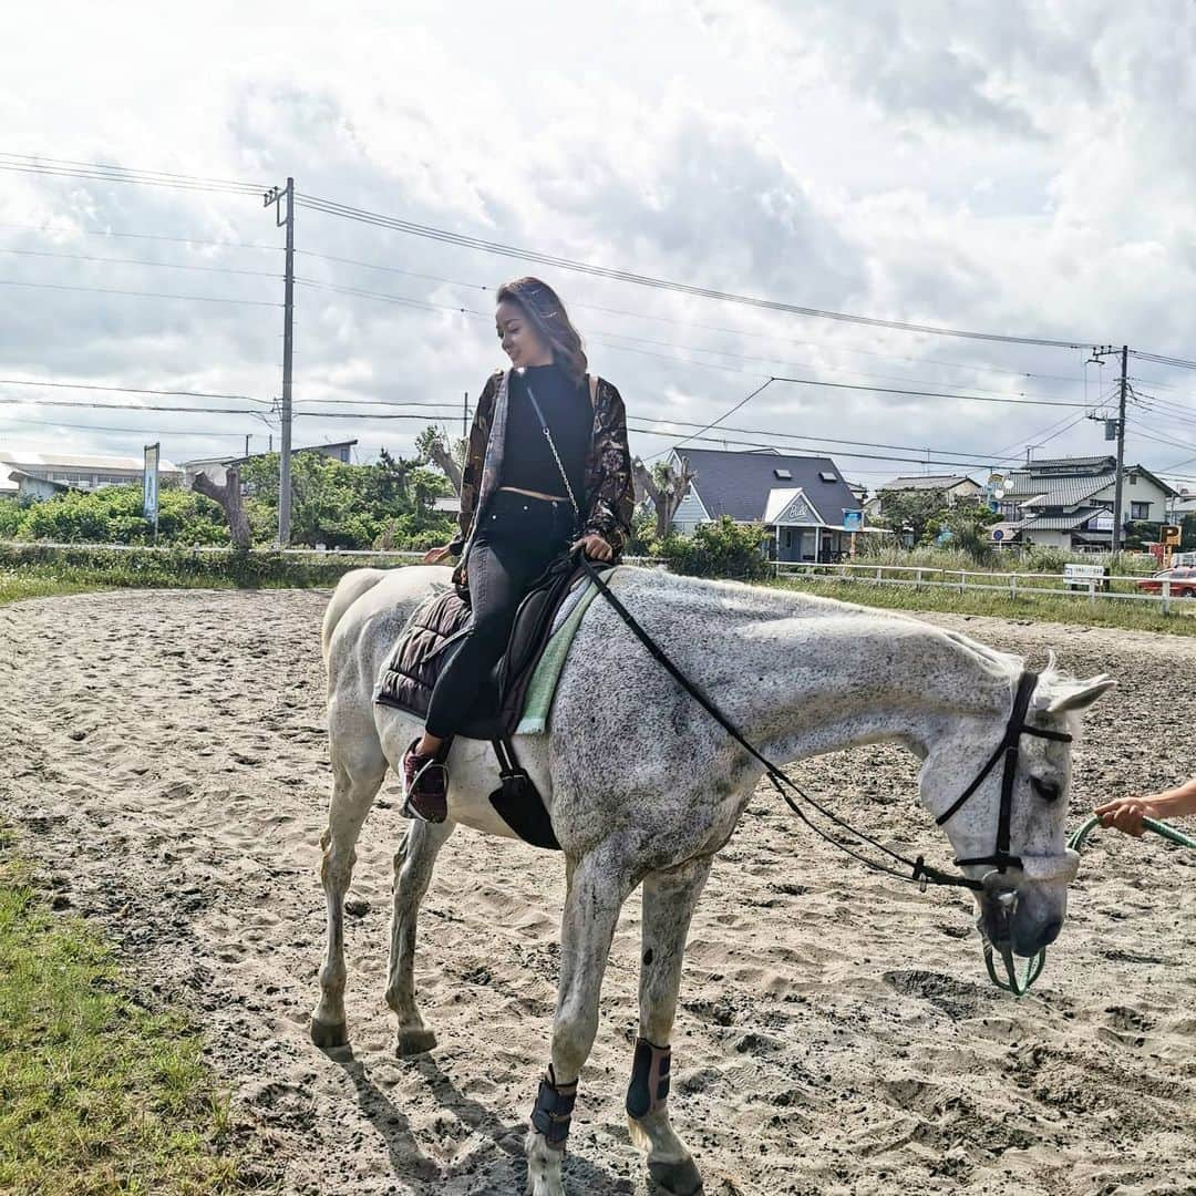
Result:
{"label": "horse's right-hand hind leg, below the rider's shoe", "polygon": [[415,1003],[415,922],[432,880],[437,855],[456,823],[413,822],[395,853],[395,911],[390,923],[390,966],[386,1003],[398,1014],[395,1054],[432,1050],[437,1036],[423,1024]]}

